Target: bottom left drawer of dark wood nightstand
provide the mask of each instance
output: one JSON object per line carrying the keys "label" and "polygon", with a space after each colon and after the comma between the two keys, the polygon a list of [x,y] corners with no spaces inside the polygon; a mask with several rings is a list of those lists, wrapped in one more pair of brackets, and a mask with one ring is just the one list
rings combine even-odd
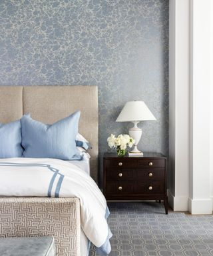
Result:
{"label": "bottom left drawer of dark wood nightstand", "polygon": [[123,194],[132,194],[134,193],[134,182],[129,181],[111,181],[107,183],[106,186],[107,195],[123,195]]}

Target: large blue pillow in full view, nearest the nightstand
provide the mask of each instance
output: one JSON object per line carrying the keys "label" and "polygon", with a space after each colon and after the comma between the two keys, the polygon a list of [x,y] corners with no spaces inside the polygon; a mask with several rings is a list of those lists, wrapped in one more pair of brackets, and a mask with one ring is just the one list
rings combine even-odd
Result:
{"label": "large blue pillow in full view, nearest the nightstand", "polygon": [[24,157],[80,160],[75,138],[78,133],[80,111],[61,119],[53,125],[33,120],[30,115],[21,118]]}

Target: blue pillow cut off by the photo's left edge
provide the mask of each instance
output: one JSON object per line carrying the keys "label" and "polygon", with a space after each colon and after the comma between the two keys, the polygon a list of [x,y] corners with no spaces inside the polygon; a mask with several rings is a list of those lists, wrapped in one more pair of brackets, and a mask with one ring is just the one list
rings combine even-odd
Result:
{"label": "blue pillow cut off by the photo's left edge", "polygon": [[21,157],[21,121],[0,123],[0,158]]}

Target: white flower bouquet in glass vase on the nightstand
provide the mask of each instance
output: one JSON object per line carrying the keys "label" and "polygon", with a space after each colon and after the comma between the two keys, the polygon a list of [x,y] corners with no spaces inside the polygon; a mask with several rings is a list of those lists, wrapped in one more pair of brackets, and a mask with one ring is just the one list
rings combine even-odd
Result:
{"label": "white flower bouquet in glass vase on the nightstand", "polygon": [[128,134],[120,134],[118,137],[111,134],[110,137],[108,137],[107,142],[110,149],[114,148],[119,156],[124,156],[126,154],[126,147],[132,147],[134,139]]}

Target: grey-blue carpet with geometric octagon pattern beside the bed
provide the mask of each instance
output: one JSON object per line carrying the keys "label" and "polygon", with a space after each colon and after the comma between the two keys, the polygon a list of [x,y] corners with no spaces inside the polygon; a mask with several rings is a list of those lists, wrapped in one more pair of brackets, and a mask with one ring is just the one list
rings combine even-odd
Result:
{"label": "grey-blue carpet with geometric octagon pattern beside the bed", "polygon": [[[161,203],[108,203],[110,256],[213,255],[212,215],[164,214]],[[98,255],[92,246],[90,256]]]}

